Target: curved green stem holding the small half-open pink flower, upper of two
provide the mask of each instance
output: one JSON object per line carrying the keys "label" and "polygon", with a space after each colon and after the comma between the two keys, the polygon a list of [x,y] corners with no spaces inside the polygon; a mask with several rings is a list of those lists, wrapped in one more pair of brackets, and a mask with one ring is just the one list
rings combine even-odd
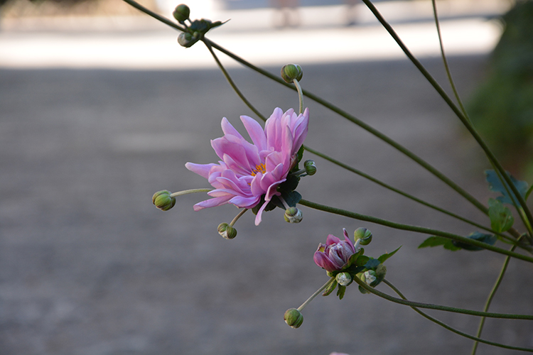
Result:
{"label": "curved green stem holding the small half-open pink flower, upper of two", "polygon": [[441,311],[452,312],[452,313],[461,313],[462,315],[474,315],[476,317],[500,318],[504,320],[533,320],[533,315],[510,315],[510,314],[505,314],[505,313],[480,312],[480,311],[475,311],[475,310],[466,310],[464,308],[458,308],[458,307],[432,305],[431,303],[421,303],[421,302],[403,300],[402,298],[397,298],[391,295],[387,295],[387,293],[383,293],[381,291],[376,290],[375,288],[370,287],[366,283],[362,282],[360,278],[353,278],[353,280],[358,285],[360,285],[362,288],[364,288],[367,292],[373,293],[374,295],[382,297],[385,300],[398,303],[399,305],[426,308],[429,310],[441,310]]}

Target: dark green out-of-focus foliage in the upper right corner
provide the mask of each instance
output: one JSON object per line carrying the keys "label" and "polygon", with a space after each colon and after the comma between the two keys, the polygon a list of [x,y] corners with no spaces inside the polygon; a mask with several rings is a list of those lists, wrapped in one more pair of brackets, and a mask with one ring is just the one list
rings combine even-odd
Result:
{"label": "dark green out-of-focus foliage in the upper right corner", "polygon": [[533,1],[502,16],[489,76],[468,105],[474,126],[512,170],[533,170]]}

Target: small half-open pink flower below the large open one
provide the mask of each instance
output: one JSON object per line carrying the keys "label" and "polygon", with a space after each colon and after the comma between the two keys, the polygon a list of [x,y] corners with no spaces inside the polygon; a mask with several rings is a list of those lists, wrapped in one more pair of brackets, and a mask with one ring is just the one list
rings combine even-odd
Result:
{"label": "small half-open pink flower below the large open one", "polygon": [[[348,232],[343,228],[344,239],[341,241],[333,234],[328,235],[324,244],[319,244],[313,259],[316,265],[325,268],[326,271],[340,271],[350,260],[350,256],[355,254],[356,247],[348,238]],[[357,248],[358,249],[358,248]]]}

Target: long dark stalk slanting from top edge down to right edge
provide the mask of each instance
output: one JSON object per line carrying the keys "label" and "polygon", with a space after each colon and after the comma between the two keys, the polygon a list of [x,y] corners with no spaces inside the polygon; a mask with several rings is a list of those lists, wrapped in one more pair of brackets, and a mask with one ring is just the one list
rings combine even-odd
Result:
{"label": "long dark stalk slanting from top edge down to right edge", "polygon": [[473,136],[475,141],[478,142],[479,146],[485,152],[485,155],[487,155],[488,160],[495,165],[495,168],[497,170],[499,170],[500,173],[502,173],[503,179],[505,180],[505,182],[507,182],[507,184],[509,184],[512,192],[515,193],[519,204],[522,206],[522,209],[524,209],[524,213],[526,214],[526,217],[527,217],[527,219],[529,221],[529,224],[533,225],[533,215],[531,214],[531,211],[529,211],[529,208],[527,207],[527,204],[526,204],[524,198],[519,194],[519,192],[517,190],[517,187],[515,186],[515,184],[512,183],[512,181],[511,181],[510,177],[507,175],[507,173],[505,173],[505,169],[500,164],[500,161],[497,160],[497,158],[494,155],[494,153],[492,153],[492,151],[487,146],[485,141],[483,141],[483,138],[481,138],[481,136],[479,135],[478,131],[475,130],[474,126],[465,117],[463,112],[461,112],[461,110],[458,109],[458,107],[456,107],[456,104],[454,104],[453,101],[451,100],[451,98],[448,97],[448,94],[446,94],[446,92],[442,89],[442,87],[438,84],[438,82],[436,82],[434,77],[432,77],[431,74],[429,74],[429,72],[426,70],[424,65],[422,65],[421,62],[419,62],[419,60],[417,60],[414,57],[414,55],[409,51],[407,46],[402,42],[402,40],[399,38],[397,33],[392,28],[392,26],[390,26],[389,23],[387,21],[385,21],[385,19],[381,15],[381,13],[379,13],[379,11],[377,11],[377,9],[374,6],[374,4],[372,4],[372,1],[370,1],[370,0],[362,0],[362,1],[365,3],[365,5],[368,7],[368,9],[370,9],[370,11],[372,11],[372,13],[374,13],[374,16],[376,16],[377,20],[387,30],[389,35],[391,35],[392,38],[394,38],[394,40],[399,45],[399,47],[402,48],[402,50],[404,51],[405,55],[407,55],[407,58],[409,58],[409,60],[411,60],[411,62],[420,70],[422,75],[424,75],[424,77],[426,77],[426,80],[429,81],[429,83],[434,87],[434,89],[436,89],[438,94],[441,95],[441,97],[446,102],[446,104],[448,104],[448,106],[452,109],[452,111],[456,114],[456,116],[458,116],[458,118],[461,120],[461,122],[463,122],[463,124],[466,127],[466,129],[468,129],[468,131]]}

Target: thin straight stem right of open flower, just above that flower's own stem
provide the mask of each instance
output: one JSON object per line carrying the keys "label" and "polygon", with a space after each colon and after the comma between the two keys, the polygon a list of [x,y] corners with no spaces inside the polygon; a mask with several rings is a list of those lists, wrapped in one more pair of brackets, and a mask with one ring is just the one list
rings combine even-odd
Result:
{"label": "thin straight stem right of open flower, just above that flower's own stem", "polygon": [[464,218],[464,217],[461,217],[461,216],[459,216],[458,214],[454,214],[453,212],[449,212],[449,211],[446,210],[446,209],[443,209],[443,208],[441,208],[441,207],[437,207],[437,206],[435,206],[434,204],[431,204],[431,203],[426,202],[426,201],[424,201],[424,200],[420,200],[419,198],[414,197],[413,195],[409,195],[407,192],[403,192],[402,190],[398,190],[398,189],[395,188],[395,187],[392,187],[392,186],[390,186],[390,185],[387,185],[385,182],[382,182],[381,180],[378,180],[378,179],[376,179],[376,178],[374,178],[374,177],[372,177],[372,176],[370,176],[370,175],[367,175],[366,173],[363,173],[363,172],[360,171],[360,170],[357,170],[357,169],[355,169],[355,168],[352,168],[350,165],[347,165],[347,164],[345,164],[345,163],[342,163],[342,162],[340,162],[339,160],[336,160],[335,158],[331,158],[330,156],[325,155],[324,153],[321,153],[321,152],[319,152],[319,151],[316,151],[316,150],[314,150],[313,148],[310,148],[310,147],[308,147],[308,146],[303,146],[303,148],[304,148],[306,151],[308,151],[309,153],[313,153],[313,154],[315,154],[315,155],[318,155],[319,157],[324,158],[325,160],[328,160],[328,161],[330,161],[331,163],[340,166],[341,168],[344,168],[344,169],[346,169],[346,170],[351,171],[352,173],[355,173],[355,174],[357,174],[357,175],[360,175],[360,176],[362,176],[363,178],[365,178],[365,179],[367,179],[367,180],[370,180],[370,181],[372,181],[372,182],[375,182],[377,185],[380,185],[380,186],[382,186],[382,187],[384,187],[384,188],[386,188],[386,189],[388,189],[388,190],[391,190],[391,191],[393,191],[393,192],[396,192],[397,194],[402,195],[402,196],[404,196],[404,197],[407,197],[408,199],[413,200],[413,201],[415,201],[415,202],[418,202],[419,204],[423,204],[423,205],[426,206],[426,207],[429,207],[429,208],[431,208],[431,209],[435,209],[435,210],[438,211],[438,212],[442,212],[442,213],[444,213],[444,214],[448,214],[448,216],[451,216],[451,217],[456,218],[456,219],[459,219],[459,220],[461,220],[461,221],[463,221],[463,222],[465,222],[465,223],[468,223],[468,224],[471,224],[471,225],[473,225],[473,226],[476,226],[476,227],[478,227],[479,229],[483,229],[483,230],[485,230],[485,231],[490,231],[491,233],[497,234],[498,236],[502,236],[502,238],[505,238],[505,239],[507,239],[507,240],[509,240],[509,241],[513,241],[513,242],[515,241],[514,239],[510,238],[509,236],[506,236],[505,234],[497,233],[496,231],[493,231],[492,229],[490,229],[490,228],[488,228],[488,227],[485,227],[485,226],[483,226],[483,225],[481,225],[481,224],[478,224],[478,223],[476,223],[476,222],[473,222],[473,221],[471,221],[470,219],[466,219],[466,218]]}

